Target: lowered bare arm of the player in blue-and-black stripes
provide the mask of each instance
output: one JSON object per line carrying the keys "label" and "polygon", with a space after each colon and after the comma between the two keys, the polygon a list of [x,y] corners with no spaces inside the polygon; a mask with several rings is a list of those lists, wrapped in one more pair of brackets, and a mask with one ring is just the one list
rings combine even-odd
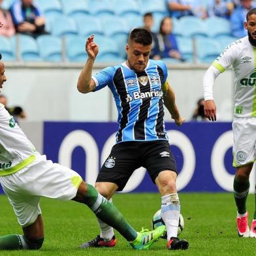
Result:
{"label": "lowered bare arm of the player in blue-and-black stripes", "polygon": [[163,86],[163,101],[165,106],[168,109],[168,112],[170,112],[172,119],[174,119],[176,125],[180,126],[182,123],[184,123],[185,118],[182,118],[180,116],[180,112],[178,110],[178,106],[175,103],[175,94],[171,86],[166,82]]}

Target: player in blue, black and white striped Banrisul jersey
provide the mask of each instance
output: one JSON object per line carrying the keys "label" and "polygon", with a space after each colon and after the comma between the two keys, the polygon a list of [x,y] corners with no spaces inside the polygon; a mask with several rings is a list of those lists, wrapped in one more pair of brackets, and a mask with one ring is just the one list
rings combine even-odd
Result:
{"label": "player in blue, black and white striped Banrisul jersey", "polygon": [[[112,200],[114,192],[125,187],[133,171],[145,167],[161,193],[167,248],[187,249],[188,242],[177,238],[180,200],[176,189],[176,163],[163,120],[164,104],[177,125],[185,120],[180,116],[174,91],[167,82],[167,67],[163,61],[149,59],[151,50],[150,31],[133,29],[126,46],[127,61],[106,67],[92,76],[99,47],[93,35],[86,41],[88,59],[78,79],[78,91],[89,93],[108,86],[116,101],[119,124],[116,144],[99,172],[95,188]],[[112,227],[98,221],[101,234],[82,244],[82,248],[115,246]]]}

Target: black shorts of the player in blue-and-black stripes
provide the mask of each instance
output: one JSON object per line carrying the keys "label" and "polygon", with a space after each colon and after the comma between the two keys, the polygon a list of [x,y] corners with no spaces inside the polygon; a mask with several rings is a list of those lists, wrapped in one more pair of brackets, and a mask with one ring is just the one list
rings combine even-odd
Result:
{"label": "black shorts of the player in blue-and-black stripes", "polygon": [[118,191],[122,191],[131,174],[140,167],[148,170],[154,184],[162,170],[177,172],[167,140],[121,142],[114,145],[96,182],[112,182],[118,185]]}

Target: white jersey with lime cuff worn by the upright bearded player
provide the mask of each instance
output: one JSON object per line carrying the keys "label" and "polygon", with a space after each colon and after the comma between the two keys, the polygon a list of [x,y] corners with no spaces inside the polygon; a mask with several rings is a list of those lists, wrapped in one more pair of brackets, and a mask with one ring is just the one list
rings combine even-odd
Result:
{"label": "white jersey with lime cuff worn by the upright bearded player", "polygon": [[212,63],[220,72],[234,71],[234,116],[256,117],[256,47],[248,37],[232,42]]}

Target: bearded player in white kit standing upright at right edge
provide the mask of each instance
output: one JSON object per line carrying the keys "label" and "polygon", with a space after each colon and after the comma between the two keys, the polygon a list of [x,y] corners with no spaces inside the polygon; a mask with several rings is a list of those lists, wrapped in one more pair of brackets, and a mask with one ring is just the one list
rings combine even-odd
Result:
{"label": "bearded player in white kit standing upright at right edge", "polygon": [[256,238],[256,210],[248,225],[246,199],[249,191],[249,174],[256,159],[256,8],[249,10],[244,27],[248,36],[238,39],[217,57],[204,74],[204,114],[216,121],[216,104],[213,86],[217,76],[229,66],[234,71],[234,120],[232,130],[234,200],[237,206],[236,227],[238,236]]}

